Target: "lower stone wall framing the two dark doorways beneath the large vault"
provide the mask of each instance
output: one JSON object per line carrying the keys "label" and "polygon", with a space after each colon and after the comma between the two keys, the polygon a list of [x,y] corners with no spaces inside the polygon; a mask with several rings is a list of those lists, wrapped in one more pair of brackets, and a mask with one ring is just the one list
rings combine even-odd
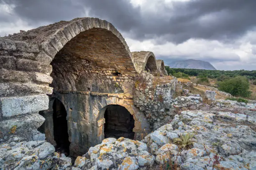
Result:
{"label": "lower stone wall framing the two dark doorways beneath the large vault", "polygon": [[[133,106],[132,96],[129,94],[116,93],[98,93],[87,91],[59,91],[51,95],[51,99],[59,99],[67,110],[68,133],[70,151],[72,155],[82,155],[97,143],[100,143],[104,137],[104,112],[108,105],[120,105],[125,107],[135,120],[133,132],[136,133],[136,139],[141,139],[141,134],[150,133],[151,129],[143,114],[138,108]],[[43,115],[49,115],[52,111],[45,110]],[[50,114],[52,115],[52,114]],[[46,117],[46,116],[44,116]],[[47,117],[46,117],[47,118]],[[48,117],[46,122],[51,121]],[[46,133],[46,140],[54,139],[52,124],[46,124],[45,129],[51,130]]]}

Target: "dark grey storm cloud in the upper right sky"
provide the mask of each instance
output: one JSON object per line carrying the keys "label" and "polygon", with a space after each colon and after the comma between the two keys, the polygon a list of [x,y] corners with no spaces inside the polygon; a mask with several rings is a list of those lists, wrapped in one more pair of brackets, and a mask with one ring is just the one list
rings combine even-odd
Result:
{"label": "dark grey storm cloud in the upper right sky", "polygon": [[165,8],[166,12],[171,11],[168,21],[151,15],[150,22],[138,27],[136,36],[139,32],[144,33],[142,36],[155,33],[177,43],[189,38],[227,41],[256,26],[255,7],[255,0],[174,2],[173,8]]}

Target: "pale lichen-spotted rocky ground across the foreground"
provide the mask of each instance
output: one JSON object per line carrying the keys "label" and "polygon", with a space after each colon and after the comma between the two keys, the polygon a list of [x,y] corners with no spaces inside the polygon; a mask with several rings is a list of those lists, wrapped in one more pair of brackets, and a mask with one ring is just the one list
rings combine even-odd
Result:
{"label": "pale lichen-spotted rocky ground across the foreground", "polygon": [[[107,138],[74,165],[46,141],[12,136],[0,143],[0,170],[256,169],[256,104],[215,100],[207,105],[195,95],[177,97],[173,106],[178,114],[144,140]],[[178,143],[182,137],[187,142]]]}

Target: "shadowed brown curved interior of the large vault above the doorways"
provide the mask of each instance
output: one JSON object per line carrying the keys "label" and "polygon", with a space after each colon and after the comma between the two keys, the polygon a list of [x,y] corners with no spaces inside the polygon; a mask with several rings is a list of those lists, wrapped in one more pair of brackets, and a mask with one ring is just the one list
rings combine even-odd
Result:
{"label": "shadowed brown curved interior of the large vault above the doorways", "polygon": [[[93,28],[80,32],[59,50],[51,62],[54,90],[113,91],[110,81],[91,70],[110,69],[121,74],[133,67],[123,43],[112,32]],[[102,81],[105,82],[103,83]],[[114,85],[113,85],[114,86]]]}

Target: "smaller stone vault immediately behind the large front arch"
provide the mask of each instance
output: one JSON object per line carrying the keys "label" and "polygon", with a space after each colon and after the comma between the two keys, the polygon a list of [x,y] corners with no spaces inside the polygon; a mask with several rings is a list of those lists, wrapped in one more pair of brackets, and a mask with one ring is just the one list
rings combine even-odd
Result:
{"label": "smaller stone vault immediately behind the large front arch", "polygon": [[138,73],[141,73],[144,70],[149,70],[153,74],[156,74],[158,72],[156,65],[156,57],[153,52],[132,52],[132,55],[133,63]]}

